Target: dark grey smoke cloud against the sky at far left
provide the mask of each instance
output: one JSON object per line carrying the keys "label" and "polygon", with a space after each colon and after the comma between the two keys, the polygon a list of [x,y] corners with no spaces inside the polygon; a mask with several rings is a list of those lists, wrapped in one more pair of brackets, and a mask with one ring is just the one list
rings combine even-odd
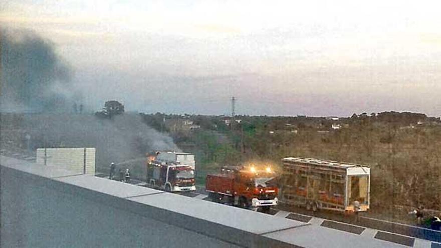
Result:
{"label": "dark grey smoke cloud against the sky at far left", "polygon": [[63,112],[71,71],[54,45],[31,31],[0,29],[1,110],[3,112]]}

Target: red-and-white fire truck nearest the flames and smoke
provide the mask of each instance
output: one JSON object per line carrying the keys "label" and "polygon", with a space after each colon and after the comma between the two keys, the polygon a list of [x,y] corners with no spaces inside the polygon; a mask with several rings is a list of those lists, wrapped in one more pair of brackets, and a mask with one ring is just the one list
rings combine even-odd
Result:
{"label": "red-and-white fire truck nearest the flames and smoke", "polygon": [[[156,152],[156,156],[149,156],[146,180],[148,185],[169,192],[195,191],[194,154],[164,153],[162,156],[160,152]],[[187,164],[188,161],[190,163]]]}

